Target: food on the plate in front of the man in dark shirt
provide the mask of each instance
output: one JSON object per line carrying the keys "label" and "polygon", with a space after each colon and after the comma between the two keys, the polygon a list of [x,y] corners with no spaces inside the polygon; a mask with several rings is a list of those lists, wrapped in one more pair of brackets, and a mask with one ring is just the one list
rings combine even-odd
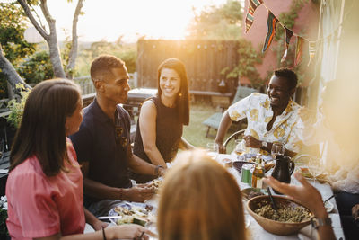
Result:
{"label": "food on the plate in front of the man in dark shirt", "polygon": [[134,204],[124,203],[118,205],[109,212],[109,216],[121,216],[122,218],[114,218],[118,225],[134,223],[145,226],[149,222],[153,222],[153,206],[142,204],[136,206]]}

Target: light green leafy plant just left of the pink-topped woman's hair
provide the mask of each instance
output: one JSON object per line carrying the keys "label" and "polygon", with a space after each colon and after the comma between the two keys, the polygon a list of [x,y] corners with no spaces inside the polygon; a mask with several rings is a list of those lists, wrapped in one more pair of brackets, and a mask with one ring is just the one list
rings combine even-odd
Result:
{"label": "light green leafy plant just left of the pink-topped woman's hair", "polygon": [[10,114],[7,117],[7,121],[10,122],[13,127],[18,129],[20,123],[22,122],[23,109],[25,108],[25,102],[28,99],[30,91],[27,91],[22,84],[17,84],[16,88],[19,90],[22,99],[20,102],[17,102],[16,99],[13,99],[7,104],[7,107],[10,109]]}

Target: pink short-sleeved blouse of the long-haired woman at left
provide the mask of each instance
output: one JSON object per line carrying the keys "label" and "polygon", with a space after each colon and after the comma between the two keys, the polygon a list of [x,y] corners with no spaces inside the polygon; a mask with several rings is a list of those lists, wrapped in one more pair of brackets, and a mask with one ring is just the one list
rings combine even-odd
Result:
{"label": "pink short-sleeved blouse of the long-haired woman at left", "polygon": [[7,228],[12,239],[62,236],[83,233],[83,174],[71,140],[67,155],[69,173],[47,177],[36,156],[31,156],[9,173]]}

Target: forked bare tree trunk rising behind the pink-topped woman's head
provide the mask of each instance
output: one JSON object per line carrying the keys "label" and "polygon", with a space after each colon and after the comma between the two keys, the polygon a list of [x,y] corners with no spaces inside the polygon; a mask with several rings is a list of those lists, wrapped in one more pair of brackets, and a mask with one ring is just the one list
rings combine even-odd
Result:
{"label": "forked bare tree trunk rising behind the pink-topped woman's head", "polygon": [[[26,13],[26,15],[29,17],[31,23],[34,25],[37,31],[39,31],[39,34],[44,38],[44,40],[46,40],[48,43],[50,60],[54,70],[54,75],[56,77],[65,78],[66,74],[64,67],[62,66],[60,50],[58,49],[58,43],[57,43],[57,29],[55,24],[56,21],[48,11],[47,2],[48,2],[47,0],[34,0],[34,1],[18,0],[18,3],[22,5],[23,10]],[[41,22],[35,19],[34,17],[34,13],[36,14],[36,12],[33,9],[33,5],[36,4],[39,4],[41,8],[41,12],[45,17],[46,22],[48,22],[49,31],[47,31],[46,28],[41,25]],[[73,18],[72,46],[69,52],[68,63],[66,66],[68,77],[72,77],[75,59],[77,58],[77,48],[78,48],[77,22],[79,15],[82,13],[81,12],[82,7],[83,7],[83,0],[78,0]]]}

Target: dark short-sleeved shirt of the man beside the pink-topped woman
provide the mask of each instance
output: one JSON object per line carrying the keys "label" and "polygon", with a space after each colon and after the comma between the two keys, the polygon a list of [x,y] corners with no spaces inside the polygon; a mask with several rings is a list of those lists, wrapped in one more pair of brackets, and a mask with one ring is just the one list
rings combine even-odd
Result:
{"label": "dark short-sleeved shirt of the man beside the pink-topped woman", "polygon": [[[80,130],[70,138],[78,162],[89,163],[89,179],[111,187],[132,187],[127,169],[130,127],[128,112],[120,105],[115,112],[115,123],[101,111],[96,99],[83,109]],[[88,197],[86,200],[96,201]]]}

